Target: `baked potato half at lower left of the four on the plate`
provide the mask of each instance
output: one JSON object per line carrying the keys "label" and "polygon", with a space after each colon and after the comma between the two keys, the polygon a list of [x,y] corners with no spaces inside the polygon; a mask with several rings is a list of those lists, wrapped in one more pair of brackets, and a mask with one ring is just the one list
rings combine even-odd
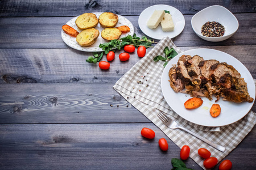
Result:
{"label": "baked potato half at lower left of the four on the plate", "polygon": [[76,36],[76,41],[80,46],[90,46],[96,42],[100,32],[95,28],[88,28],[83,30]]}

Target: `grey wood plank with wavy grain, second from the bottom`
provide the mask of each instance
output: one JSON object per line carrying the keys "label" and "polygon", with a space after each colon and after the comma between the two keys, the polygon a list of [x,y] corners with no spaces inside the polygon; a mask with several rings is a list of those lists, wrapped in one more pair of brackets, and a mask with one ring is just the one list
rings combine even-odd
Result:
{"label": "grey wood plank with wavy grain, second from the bottom", "polygon": [[151,122],[109,83],[2,84],[0,94],[0,124]]}

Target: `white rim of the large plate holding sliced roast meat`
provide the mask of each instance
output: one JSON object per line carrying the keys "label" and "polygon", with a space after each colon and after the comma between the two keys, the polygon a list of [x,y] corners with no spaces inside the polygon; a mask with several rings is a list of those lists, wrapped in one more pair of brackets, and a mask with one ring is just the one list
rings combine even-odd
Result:
{"label": "white rim of the large plate holding sliced roast meat", "polygon": [[[192,53],[192,52],[195,52],[195,51],[197,51],[197,50],[210,50],[210,51],[216,51],[216,52],[218,52],[218,53],[222,53],[222,54],[225,54],[226,56],[229,56],[229,57],[232,57],[234,60],[234,62],[236,62],[236,63],[238,63],[239,65],[242,65],[243,67],[241,68],[241,69],[245,69],[245,72],[246,73],[244,73],[244,74],[246,74],[247,75],[247,78],[248,78],[248,80],[249,81],[247,81],[246,83],[247,83],[247,88],[248,88],[248,90],[250,89],[249,88],[249,86],[251,86],[252,84],[249,84],[248,85],[248,83],[251,83],[251,82],[254,82],[254,79],[253,79],[253,76],[250,74],[250,71],[245,67],[245,65],[243,65],[243,63],[242,62],[240,62],[237,58],[235,58],[235,57],[233,57],[233,56],[231,56],[230,54],[228,54],[228,53],[225,53],[225,52],[222,52],[222,51],[220,51],[220,50],[216,50],[216,49],[207,49],[207,48],[197,48],[197,49],[190,49],[190,50],[187,50],[187,51],[185,51],[185,52],[181,52],[180,54],[178,54],[177,56],[175,56],[175,59],[177,60],[177,58],[179,58],[181,55],[183,55],[183,54],[187,54],[187,55],[190,55],[189,54],[189,52],[190,53]],[[193,53],[192,53],[193,54]],[[200,56],[200,55],[199,55]],[[203,57],[204,58],[204,56],[201,56],[201,57]],[[224,59],[225,60],[225,59]],[[171,60],[172,61],[172,60]],[[173,60],[174,61],[174,60]],[[221,62],[224,62],[224,61],[221,61]],[[227,63],[228,63],[228,61],[226,61]],[[219,127],[219,126],[225,126],[225,125],[230,125],[230,124],[233,124],[234,122],[237,122],[237,121],[239,121],[239,120],[241,120],[241,118],[243,118],[243,117],[245,117],[246,116],[246,114],[247,113],[249,113],[250,112],[250,110],[251,110],[251,108],[253,107],[253,104],[254,104],[254,102],[255,102],[255,83],[253,83],[253,91],[251,91],[251,92],[253,92],[253,94],[251,94],[250,93],[250,96],[251,97],[253,97],[254,98],[254,101],[252,102],[252,103],[249,103],[248,105],[250,106],[250,107],[247,107],[247,109],[243,112],[243,114],[238,114],[238,116],[237,116],[237,118],[236,118],[236,120],[233,120],[233,121],[229,121],[229,122],[218,122],[218,124],[216,124],[216,125],[213,125],[213,124],[210,124],[210,125],[208,125],[208,124],[204,124],[204,123],[200,123],[200,122],[197,122],[197,121],[191,121],[189,118],[187,118],[187,117],[184,117],[184,114],[180,114],[179,113],[179,111],[177,111],[177,109],[176,108],[173,108],[172,106],[171,106],[171,104],[170,104],[170,101],[169,100],[167,100],[167,94],[166,94],[166,92],[164,92],[164,83],[166,84],[166,82],[163,82],[163,81],[166,81],[166,79],[164,78],[164,76],[166,76],[165,74],[166,74],[166,71],[168,71],[167,69],[168,69],[168,67],[170,67],[170,65],[174,65],[174,64],[176,64],[176,63],[172,63],[172,62],[169,62],[168,64],[167,64],[167,66],[166,66],[166,68],[164,68],[164,70],[163,70],[163,73],[162,73],[162,76],[161,76],[161,90],[162,90],[162,94],[163,94],[163,96],[164,96],[164,99],[166,100],[166,102],[167,102],[167,104],[172,108],[172,110],[174,111],[174,112],[176,112],[180,117],[183,117],[185,120],[187,120],[187,121],[189,121],[189,122],[192,122],[193,124],[197,124],[197,125],[201,125],[201,126],[208,126],[208,127]],[[237,69],[236,67],[235,67],[235,69]],[[241,69],[238,69],[238,70],[241,70]],[[167,72],[168,73],[168,72]],[[249,74],[247,74],[247,73],[249,73]],[[243,75],[244,75],[243,74]],[[242,77],[242,78],[244,78],[244,77]],[[169,79],[168,79],[169,80]],[[170,87],[170,83],[168,84],[168,86]],[[171,87],[170,87],[170,89],[172,89]],[[173,91],[174,92],[174,91]],[[181,94],[181,93],[179,93],[179,94]],[[184,95],[188,95],[188,94],[184,94]],[[190,97],[190,95],[188,95],[188,97]],[[191,97],[190,97],[191,98]],[[206,99],[206,100],[208,100],[207,98],[205,98],[205,97],[202,97],[202,99]],[[204,100],[203,99],[203,100]],[[220,99],[220,100],[222,100],[222,99]],[[210,101],[210,100],[208,100],[208,101]],[[213,101],[213,100],[212,100]],[[228,102],[228,101],[226,101],[226,102]],[[231,102],[230,102],[231,103]],[[247,103],[245,103],[245,104],[247,104]],[[209,111],[208,111],[209,112]],[[240,115],[240,116],[239,116]]]}

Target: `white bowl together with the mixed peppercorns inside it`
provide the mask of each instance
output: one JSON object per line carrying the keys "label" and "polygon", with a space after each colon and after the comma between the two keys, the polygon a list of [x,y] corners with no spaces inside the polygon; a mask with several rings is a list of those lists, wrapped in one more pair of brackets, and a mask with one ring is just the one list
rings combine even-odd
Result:
{"label": "white bowl together with the mixed peppercorns inside it", "polygon": [[239,27],[236,16],[219,5],[209,6],[197,12],[191,19],[191,25],[197,36],[212,42],[228,39]]}

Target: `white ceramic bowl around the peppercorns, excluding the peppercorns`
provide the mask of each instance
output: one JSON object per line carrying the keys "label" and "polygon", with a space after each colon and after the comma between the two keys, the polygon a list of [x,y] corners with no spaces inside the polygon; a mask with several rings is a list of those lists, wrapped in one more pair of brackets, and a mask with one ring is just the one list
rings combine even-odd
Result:
{"label": "white ceramic bowl around the peppercorns, excluding the peppercorns", "polygon": [[[202,26],[207,22],[218,22],[225,27],[225,33],[222,37],[207,37],[201,33]],[[192,28],[201,39],[218,42],[233,36],[238,29],[238,20],[227,8],[213,5],[197,12],[191,19]]]}

